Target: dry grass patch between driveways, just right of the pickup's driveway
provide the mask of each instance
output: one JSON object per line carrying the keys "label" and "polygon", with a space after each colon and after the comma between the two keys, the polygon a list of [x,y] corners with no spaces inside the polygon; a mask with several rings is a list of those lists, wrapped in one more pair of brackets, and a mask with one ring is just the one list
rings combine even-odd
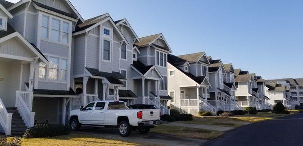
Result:
{"label": "dry grass patch between driveways, just right of the pickup's driveway", "polygon": [[150,132],[194,139],[214,139],[224,133],[220,131],[165,125],[159,125],[156,128],[151,129]]}

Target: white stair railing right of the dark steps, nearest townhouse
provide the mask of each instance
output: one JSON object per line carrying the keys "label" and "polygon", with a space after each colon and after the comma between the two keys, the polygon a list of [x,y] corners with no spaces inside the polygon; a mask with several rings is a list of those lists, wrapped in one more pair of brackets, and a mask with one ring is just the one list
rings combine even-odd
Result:
{"label": "white stair railing right of the dark steps, nearest townhouse", "polygon": [[[32,93],[33,91],[17,91],[16,92],[16,107],[25,122],[25,125],[30,128],[34,126],[35,113],[31,112],[32,108]],[[30,97],[31,96],[31,97]],[[30,100],[31,99],[31,100]],[[26,101],[24,101],[26,100]],[[26,102],[29,102],[28,105]]]}

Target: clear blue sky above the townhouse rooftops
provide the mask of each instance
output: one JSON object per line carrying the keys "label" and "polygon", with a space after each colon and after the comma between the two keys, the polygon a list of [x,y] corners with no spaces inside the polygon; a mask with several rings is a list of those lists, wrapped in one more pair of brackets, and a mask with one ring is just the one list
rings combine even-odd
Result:
{"label": "clear blue sky above the townhouse rooftops", "polygon": [[71,0],[84,19],[127,18],[174,55],[205,51],[263,78],[303,78],[303,1]]}

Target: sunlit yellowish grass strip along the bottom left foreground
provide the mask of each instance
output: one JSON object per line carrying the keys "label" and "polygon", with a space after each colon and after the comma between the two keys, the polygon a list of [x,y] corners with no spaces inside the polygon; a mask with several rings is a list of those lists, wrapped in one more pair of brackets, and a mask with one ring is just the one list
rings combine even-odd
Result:
{"label": "sunlit yellowish grass strip along the bottom left foreground", "polygon": [[128,141],[114,140],[102,136],[70,134],[48,138],[22,138],[21,145],[142,145]]}

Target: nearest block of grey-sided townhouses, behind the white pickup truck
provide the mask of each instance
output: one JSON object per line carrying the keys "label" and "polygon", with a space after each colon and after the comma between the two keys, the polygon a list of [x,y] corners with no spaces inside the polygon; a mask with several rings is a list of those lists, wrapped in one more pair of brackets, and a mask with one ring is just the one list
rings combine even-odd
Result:
{"label": "nearest block of grey-sided townhouses, behind the white pickup truck", "polygon": [[171,52],[162,34],[139,38],[109,14],[84,20],[68,0],[0,0],[0,132],[67,124],[71,110],[95,100],[169,114]]}

